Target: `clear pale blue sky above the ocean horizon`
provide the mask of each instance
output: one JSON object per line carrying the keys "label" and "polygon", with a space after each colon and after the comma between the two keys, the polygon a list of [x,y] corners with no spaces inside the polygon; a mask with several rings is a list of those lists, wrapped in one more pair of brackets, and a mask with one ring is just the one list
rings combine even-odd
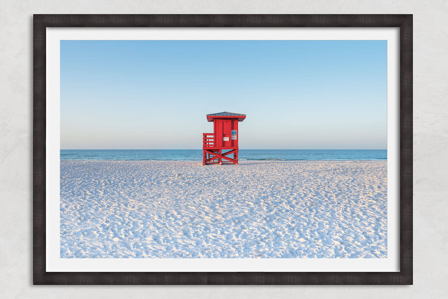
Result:
{"label": "clear pale blue sky above the ocean horizon", "polygon": [[60,42],[61,149],[386,149],[387,42]]}

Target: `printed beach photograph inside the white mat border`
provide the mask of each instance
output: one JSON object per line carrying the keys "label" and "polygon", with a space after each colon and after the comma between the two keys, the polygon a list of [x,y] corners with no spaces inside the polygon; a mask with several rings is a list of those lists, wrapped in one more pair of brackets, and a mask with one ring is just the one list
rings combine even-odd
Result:
{"label": "printed beach photograph inside the white mat border", "polygon": [[61,259],[387,259],[386,40],[61,40]]}

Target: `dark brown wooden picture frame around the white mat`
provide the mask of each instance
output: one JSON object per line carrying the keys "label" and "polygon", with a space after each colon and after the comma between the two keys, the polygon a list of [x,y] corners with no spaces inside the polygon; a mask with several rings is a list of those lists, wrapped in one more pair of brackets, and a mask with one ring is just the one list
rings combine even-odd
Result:
{"label": "dark brown wooden picture frame around the white mat", "polygon": [[[402,284],[412,275],[413,18],[375,15],[34,15],[33,283],[44,284]],[[47,27],[399,27],[400,28],[400,272],[46,272],[46,28]]]}

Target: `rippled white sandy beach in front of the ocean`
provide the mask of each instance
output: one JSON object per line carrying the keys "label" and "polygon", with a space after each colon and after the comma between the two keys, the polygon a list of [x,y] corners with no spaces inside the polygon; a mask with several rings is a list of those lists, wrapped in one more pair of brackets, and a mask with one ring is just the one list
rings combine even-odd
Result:
{"label": "rippled white sandy beach in front of the ocean", "polygon": [[387,163],[61,161],[63,258],[386,258]]}

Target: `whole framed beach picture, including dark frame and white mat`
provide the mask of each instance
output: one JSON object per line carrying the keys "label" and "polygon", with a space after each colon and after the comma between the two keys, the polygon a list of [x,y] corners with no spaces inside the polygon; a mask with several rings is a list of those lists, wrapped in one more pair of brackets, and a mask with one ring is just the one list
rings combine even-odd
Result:
{"label": "whole framed beach picture, including dark frame and white mat", "polygon": [[412,284],[412,15],[34,15],[34,284]]}

